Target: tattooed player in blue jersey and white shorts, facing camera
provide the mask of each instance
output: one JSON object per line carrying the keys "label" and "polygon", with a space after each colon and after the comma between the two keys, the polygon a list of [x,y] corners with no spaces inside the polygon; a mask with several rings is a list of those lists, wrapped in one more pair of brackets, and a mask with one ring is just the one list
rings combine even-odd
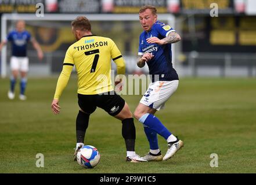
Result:
{"label": "tattooed player in blue jersey and white shorts, facing camera", "polygon": [[[150,145],[149,153],[142,158],[147,161],[168,160],[183,146],[183,142],[172,135],[154,114],[163,109],[164,103],[178,88],[179,78],[172,66],[171,44],[181,40],[181,37],[170,25],[157,21],[154,6],[143,6],[139,10],[139,20],[144,31],[139,37],[137,65],[142,68],[147,63],[152,75],[152,83],[134,112],[135,118],[144,126]],[[158,147],[157,134],[168,143],[164,157]]]}

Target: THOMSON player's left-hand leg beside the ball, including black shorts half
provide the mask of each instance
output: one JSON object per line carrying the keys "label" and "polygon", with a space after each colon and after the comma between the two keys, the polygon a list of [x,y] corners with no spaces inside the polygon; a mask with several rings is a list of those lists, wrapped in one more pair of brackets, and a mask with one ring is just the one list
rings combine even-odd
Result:
{"label": "THOMSON player's left-hand leg beside the ball, including black shorts half", "polygon": [[89,117],[96,110],[96,105],[93,105],[95,95],[78,94],[78,105],[80,110],[77,114],[75,131],[77,136],[77,144],[75,146],[74,161],[77,160],[77,152],[84,146],[86,129],[89,124]]}

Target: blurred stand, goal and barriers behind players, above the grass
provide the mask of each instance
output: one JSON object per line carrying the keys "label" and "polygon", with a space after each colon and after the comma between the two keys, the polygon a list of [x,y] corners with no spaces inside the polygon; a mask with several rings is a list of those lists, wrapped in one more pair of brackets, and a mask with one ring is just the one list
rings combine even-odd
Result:
{"label": "blurred stand, goal and barriers behind players, above the grass", "polygon": [[[172,45],[172,62],[180,76],[256,76],[254,0],[0,0],[1,40],[16,20],[26,20],[26,29],[45,54],[39,61],[28,46],[29,76],[59,74],[66,50],[75,42],[70,23],[84,15],[91,20],[93,34],[116,42],[128,74],[147,73],[147,67],[136,66],[142,32],[138,11],[145,3],[156,6],[158,20],[181,35],[181,42]],[[36,5],[44,8],[39,17]],[[10,73],[10,54],[8,44],[1,52],[1,77]]]}

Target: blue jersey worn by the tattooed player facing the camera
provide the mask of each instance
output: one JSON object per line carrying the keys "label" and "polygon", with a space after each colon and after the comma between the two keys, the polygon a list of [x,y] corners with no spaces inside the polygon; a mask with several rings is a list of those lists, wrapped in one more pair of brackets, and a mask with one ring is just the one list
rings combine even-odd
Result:
{"label": "blue jersey worn by the tattooed player facing the camera", "polygon": [[[168,24],[157,21],[153,24],[149,32],[143,31],[139,36],[139,52],[142,56],[145,53],[152,53],[152,60],[146,62],[149,66],[149,74],[152,75],[152,82],[158,81],[155,75],[159,75],[160,81],[178,80],[178,74],[172,66],[171,44],[157,45],[156,43],[147,43],[146,39],[156,36],[159,39],[167,37],[167,35],[175,31]],[[155,77],[156,80],[155,80]]]}

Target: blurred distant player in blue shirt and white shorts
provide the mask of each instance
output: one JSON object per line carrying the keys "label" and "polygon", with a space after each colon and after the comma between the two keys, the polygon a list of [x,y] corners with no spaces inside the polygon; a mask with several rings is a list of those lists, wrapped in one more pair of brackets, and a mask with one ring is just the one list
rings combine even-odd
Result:
{"label": "blurred distant player in blue shirt and white shorts", "polygon": [[10,77],[10,90],[8,91],[9,99],[15,98],[15,84],[20,72],[20,95],[21,100],[25,100],[25,89],[27,84],[28,72],[28,57],[27,57],[27,43],[31,42],[37,50],[39,60],[42,60],[44,54],[38,42],[31,37],[30,33],[25,30],[25,21],[19,20],[16,23],[16,29],[9,32],[7,39],[0,44],[0,51],[4,45],[9,41],[12,43],[12,57],[10,57],[10,69],[12,76]]}

